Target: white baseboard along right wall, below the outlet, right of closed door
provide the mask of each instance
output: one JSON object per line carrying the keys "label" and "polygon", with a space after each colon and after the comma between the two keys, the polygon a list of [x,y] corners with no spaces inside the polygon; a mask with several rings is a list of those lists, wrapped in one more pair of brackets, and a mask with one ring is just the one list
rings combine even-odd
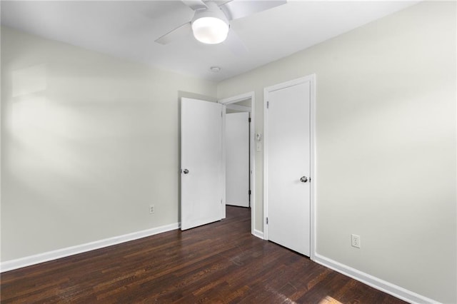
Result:
{"label": "white baseboard along right wall, below the outlet, right of closed door", "polygon": [[313,260],[316,263],[319,263],[323,266],[326,266],[335,271],[338,271],[338,273],[347,275],[348,277],[351,277],[366,285],[369,285],[373,288],[381,290],[384,293],[393,295],[396,298],[405,300],[406,302],[421,303],[421,304],[438,303],[436,300],[432,300],[431,298],[426,298],[423,295],[419,295],[418,293],[413,293],[411,290],[407,290],[400,286],[394,285],[392,283],[387,282],[386,280],[381,280],[380,278],[376,278],[373,275],[368,275],[368,273],[363,273],[360,270],[351,268],[348,265],[341,264],[341,263],[337,262],[336,260],[331,260],[330,258],[326,258],[323,255],[318,255],[316,253],[314,255]]}

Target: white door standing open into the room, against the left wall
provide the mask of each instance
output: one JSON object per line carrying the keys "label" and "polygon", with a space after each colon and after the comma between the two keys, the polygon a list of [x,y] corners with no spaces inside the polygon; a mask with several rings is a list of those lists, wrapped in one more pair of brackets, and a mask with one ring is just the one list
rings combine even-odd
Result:
{"label": "white door standing open into the room, against the left wall", "polygon": [[181,230],[222,218],[220,103],[181,98]]}

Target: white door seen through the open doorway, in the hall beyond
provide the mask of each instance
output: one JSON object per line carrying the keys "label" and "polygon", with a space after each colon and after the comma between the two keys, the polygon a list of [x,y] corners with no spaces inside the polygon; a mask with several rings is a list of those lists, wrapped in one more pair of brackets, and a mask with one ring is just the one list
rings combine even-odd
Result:
{"label": "white door seen through the open doorway, in the hall beyond", "polygon": [[226,114],[226,204],[249,207],[249,113]]}

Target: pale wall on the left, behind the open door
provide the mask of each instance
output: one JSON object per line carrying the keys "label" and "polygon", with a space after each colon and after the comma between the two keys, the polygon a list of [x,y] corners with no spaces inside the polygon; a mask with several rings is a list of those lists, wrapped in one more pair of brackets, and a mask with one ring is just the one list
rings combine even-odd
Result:
{"label": "pale wall on the left, behind the open door", "polygon": [[178,223],[186,91],[216,83],[2,28],[1,260]]}

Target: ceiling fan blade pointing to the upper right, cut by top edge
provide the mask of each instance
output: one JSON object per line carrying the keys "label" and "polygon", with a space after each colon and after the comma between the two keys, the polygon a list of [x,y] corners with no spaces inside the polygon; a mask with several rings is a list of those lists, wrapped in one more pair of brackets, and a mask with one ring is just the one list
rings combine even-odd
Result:
{"label": "ceiling fan blade pointing to the upper right, cut by top edge", "polygon": [[273,9],[273,7],[280,6],[286,3],[287,0],[233,0],[219,7],[222,11],[224,11],[224,14],[226,14],[229,20],[233,20],[243,18],[246,16],[251,16],[252,14],[256,14],[260,11],[266,11],[267,9]]}

